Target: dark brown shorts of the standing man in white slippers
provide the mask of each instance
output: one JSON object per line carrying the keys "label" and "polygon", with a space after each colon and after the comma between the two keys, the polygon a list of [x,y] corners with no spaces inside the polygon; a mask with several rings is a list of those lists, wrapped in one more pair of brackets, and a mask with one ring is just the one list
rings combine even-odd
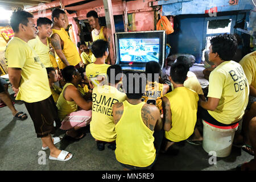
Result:
{"label": "dark brown shorts of the standing man in white slippers", "polygon": [[[35,133],[38,138],[54,134],[55,130],[60,127],[61,122],[52,96],[43,101],[24,103],[34,123]],[[53,126],[53,121],[55,121],[56,127]]]}

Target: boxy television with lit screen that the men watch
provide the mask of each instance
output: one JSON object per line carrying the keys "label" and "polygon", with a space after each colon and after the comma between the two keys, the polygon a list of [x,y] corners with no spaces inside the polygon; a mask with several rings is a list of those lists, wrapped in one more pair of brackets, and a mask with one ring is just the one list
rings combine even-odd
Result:
{"label": "boxy television with lit screen that the men watch", "polygon": [[115,34],[115,64],[123,70],[145,71],[148,61],[156,61],[163,69],[166,44],[165,31],[118,32]]}

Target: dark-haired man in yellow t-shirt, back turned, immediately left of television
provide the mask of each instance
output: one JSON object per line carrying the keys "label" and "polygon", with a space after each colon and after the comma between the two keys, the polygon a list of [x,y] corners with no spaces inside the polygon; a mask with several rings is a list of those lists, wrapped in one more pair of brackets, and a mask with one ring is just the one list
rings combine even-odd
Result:
{"label": "dark-haired man in yellow t-shirt, back turned, immediately left of television", "polygon": [[108,67],[110,67],[109,64],[105,64],[105,59],[109,55],[108,45],[108,42],[101,39],[96,40],[92,44],[92,52],[96,57],[96,61],[86,66],[86,76],[94,86],[97,86],[101,81],[104,81],[106,71]]}

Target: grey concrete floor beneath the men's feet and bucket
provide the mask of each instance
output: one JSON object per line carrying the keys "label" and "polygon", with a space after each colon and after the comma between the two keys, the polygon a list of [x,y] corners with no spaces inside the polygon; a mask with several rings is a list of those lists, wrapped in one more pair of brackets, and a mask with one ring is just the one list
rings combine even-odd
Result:
{"label": "grey concrete floor beneath the men's feet and bucket", "polygon": [[[27,109],[23,102],[15,101],[17,110]],[[115,159],[114,151],[107,145],[104,151],[98,151],[96,143],[90,135],[89,127],[84,129],[85,137],[79,141],[64,138],[56,144],[61,150],[72,152],[73,158],[68,162],[49,160],[49,150],[46,151],[46,164],[39,164],[42,154],[38,154],[42,143],[36,138],[34,126],[30,116],[25,121],[13,118],[8,107],[0,108],[0,171],[5,170],[32,170],[32,171],[90,171],[113,170],[123,168]],[[55,134],[64,137],[64,131],[58,130]],[[154,170],[206,170],[226,171],[234,170],[238,164],[249,162],[253,156],[240,148],[233,147],[232,153],[227,158],[217,158],[216,165],[210,165],[210,156],[202,146],[193,146],[187,142],[176,144],[179,154],[176,156],[160,154],[155,163]],[[40,160],[42,161],[42,160]]]}

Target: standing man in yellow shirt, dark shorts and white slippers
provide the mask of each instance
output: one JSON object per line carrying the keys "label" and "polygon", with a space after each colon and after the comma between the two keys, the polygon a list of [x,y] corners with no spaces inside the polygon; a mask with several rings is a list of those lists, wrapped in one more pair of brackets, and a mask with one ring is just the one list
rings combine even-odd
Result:
{"label": "standing man in yellow shirt, dark shorts and white slippers", "polygon": [[14,38],[6,46],[5,59],[8,63],[9,79],[15,89],[19,89],[16,100],[23,100],[34,123],[38,138],[42,139],[42,150],[49,148],[51,160],[67,161],[72,154],[55,147],[59,137],[51,138],[55,127],[60,125],[57,108],[51,96],[46,68],[28,40],[36,38],[33,15],[17,10],[11,15]]}

